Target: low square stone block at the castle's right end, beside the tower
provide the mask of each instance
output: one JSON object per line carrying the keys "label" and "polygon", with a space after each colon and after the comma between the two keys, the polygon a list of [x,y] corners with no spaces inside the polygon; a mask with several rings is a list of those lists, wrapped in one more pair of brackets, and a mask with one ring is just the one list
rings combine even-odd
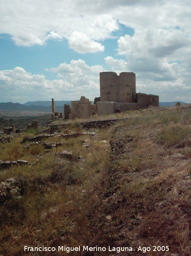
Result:
{"label": "low square stone block at the castle's right end, beside the tower", "polygon": [[159,96],[152,94],[138,93],[138,106],[140,109],[148,106],[159,107]]}

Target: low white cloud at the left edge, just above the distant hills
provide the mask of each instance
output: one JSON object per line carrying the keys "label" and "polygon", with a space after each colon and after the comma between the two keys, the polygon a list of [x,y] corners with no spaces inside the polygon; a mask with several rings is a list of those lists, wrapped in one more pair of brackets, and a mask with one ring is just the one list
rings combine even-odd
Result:
{"label": "low white cloud at the left edge, just above the distant hills", "polygon": [[43,75],[32,75],[21,67],[0,71],[1,101],[3,99],[13,102],[23,102],[25,99],[47,100],[51,95],[59,95],[61,91],[72,88],[73,85],[68,81],[63,79],[50,81]]}

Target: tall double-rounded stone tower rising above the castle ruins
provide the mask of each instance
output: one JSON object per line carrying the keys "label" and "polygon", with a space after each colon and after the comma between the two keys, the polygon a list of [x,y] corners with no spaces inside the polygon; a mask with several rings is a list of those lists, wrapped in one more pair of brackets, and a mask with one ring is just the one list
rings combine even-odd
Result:
{"label": "tall double-rounded stone tower rising above the castle ruins", "polygon": [[100,101],[133,102],[136,76],[132,72],[100,73]]}

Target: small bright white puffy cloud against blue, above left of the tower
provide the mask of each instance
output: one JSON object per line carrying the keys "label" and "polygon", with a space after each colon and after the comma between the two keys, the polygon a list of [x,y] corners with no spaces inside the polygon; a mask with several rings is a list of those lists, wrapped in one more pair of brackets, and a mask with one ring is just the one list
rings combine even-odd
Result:
{"label": "small bright white puffy cloud against blue, above left of the tower", "polygon": [[104,46],[97,43],[86,34],[74,31],[68,38],[70,48],[78,53],[95,53],[97,51],[104,51]]}

